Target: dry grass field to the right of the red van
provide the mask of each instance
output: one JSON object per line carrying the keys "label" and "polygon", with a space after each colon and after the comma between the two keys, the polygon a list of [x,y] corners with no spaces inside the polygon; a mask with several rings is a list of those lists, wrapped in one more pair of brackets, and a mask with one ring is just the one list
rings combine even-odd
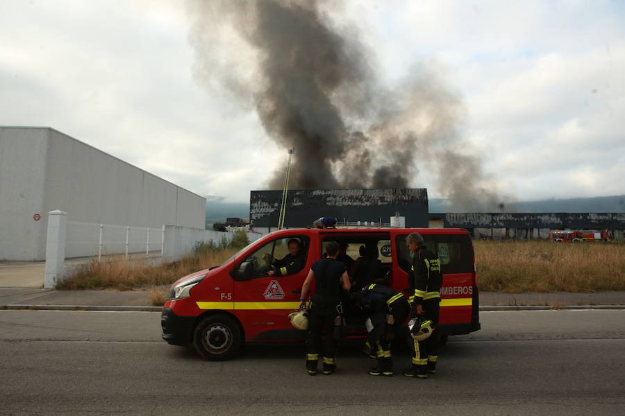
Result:
{"label": "dry grass field to the right of the red van", "polygon": [[625,291],[625,245],[475,241],[481,291]]}

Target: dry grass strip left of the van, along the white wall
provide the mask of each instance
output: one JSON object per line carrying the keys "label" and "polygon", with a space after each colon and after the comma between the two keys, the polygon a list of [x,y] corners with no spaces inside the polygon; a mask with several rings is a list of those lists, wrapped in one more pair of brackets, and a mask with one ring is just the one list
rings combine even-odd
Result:
{"label": "dry grass strip left of the van, along the white wall", "polygon": [[[75,270],[58,289],[149,289],[153,297],[165,293],[174,281],[198,270],[218,266],[231,257],[237,249],[210,250],[199,255],[185,257],[174,263],[151,266],[147,261],[97,261],[92,260]],[[152,295],[151,295],[152,298]],[[156,300],[153,300],[156,302]]]}

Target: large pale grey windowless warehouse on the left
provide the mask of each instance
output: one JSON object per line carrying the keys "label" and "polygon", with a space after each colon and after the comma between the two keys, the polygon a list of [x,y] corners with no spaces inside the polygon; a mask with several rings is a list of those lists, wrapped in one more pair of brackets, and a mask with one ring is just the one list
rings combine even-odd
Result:
{"label": "large pale grey windowless warehouse on the left", "polygon": [[45,259],[48,212],[67,221],[204,228],[206,199],[53,128],[0,127],[0,260]]}

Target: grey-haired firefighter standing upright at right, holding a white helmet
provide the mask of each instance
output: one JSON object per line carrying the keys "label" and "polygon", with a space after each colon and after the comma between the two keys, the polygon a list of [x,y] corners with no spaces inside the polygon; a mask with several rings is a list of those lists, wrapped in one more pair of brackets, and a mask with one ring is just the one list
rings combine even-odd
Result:
{"label": "grey-haired firefighter standing upright at right, holding a white helmet", "polygon": [[435,254],[426,248],[423,237],[418,232],[406,237],[408,248],[413,254],[412,268],[408,282],[414,293],[410,296],[412,318],[419,316],[432,321],[433,333],[422,341],[415,341],[415,352],[412,356],[412,367],[403,370],[407,377],[426,379],[428,372],[436,372],[440,333],[438,331],[438,310],[440,302],[440,286],[442,274],[440,261]]}

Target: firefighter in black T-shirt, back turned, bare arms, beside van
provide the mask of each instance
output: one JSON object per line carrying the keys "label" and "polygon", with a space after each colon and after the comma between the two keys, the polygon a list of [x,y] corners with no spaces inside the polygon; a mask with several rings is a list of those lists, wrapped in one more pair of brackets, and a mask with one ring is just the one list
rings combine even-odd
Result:
{"label": "firefighter in black T-shirt, back turned, bare arms, beside van", "polygon": [[328,243],[326,246],[328,257],[315,261],[301,287],[300,308],[306,302],[310,284],[315,279],[315,295],[308,304],[308,333],[306,334],[308,350],[306,370],[311,376],[317,374],[319,352],[323,353],[324,374],[332,374],[336,370],[334,322],[337,318],[340,319],[342,291],[349,291],[351,288],[347,268],[344,263],[336,260],[338,250],[337,243]]}

